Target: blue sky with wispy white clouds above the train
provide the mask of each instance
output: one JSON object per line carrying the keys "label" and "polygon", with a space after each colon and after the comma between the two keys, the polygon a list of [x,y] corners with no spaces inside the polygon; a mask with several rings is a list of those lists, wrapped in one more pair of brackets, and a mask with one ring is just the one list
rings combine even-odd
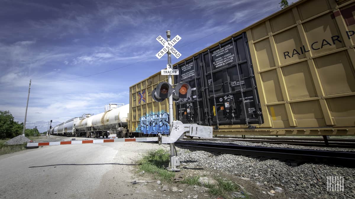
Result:
{"label": "blue sky with wispy white clouds above the train", "polygon": [[280,10],[279,2],[1,0],[0,110],[23,122],[29,79],[26,127],[40,132],[51,119],[54,126],[127,104],[129,86],[166,68],[166,55],[155,57],[158,35],[181,36],[176,63]]}

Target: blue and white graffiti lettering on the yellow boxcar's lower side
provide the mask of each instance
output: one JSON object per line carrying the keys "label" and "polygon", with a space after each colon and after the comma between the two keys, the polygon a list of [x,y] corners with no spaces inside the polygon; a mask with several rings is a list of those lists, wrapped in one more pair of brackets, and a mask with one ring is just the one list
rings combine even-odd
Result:
{"label": "blue and white graffiti lettering on the yellow boxcar's lower side", "polygon": [[169,134],[169,113],[152,113],[141,117],[140,131],[144,134]]}

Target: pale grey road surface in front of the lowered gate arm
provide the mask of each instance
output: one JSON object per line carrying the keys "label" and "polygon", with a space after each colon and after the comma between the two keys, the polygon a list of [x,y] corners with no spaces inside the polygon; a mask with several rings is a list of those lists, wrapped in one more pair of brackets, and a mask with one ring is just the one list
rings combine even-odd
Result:
{"label": "pale grey road surface in front of the lowered gate arm", "polygon": [[[45,146],[0,156],[0,198],[160,198],[132,174],[151,143]],[[155,184],[157,185],[157,184]],[[158,195],[157,195],[158,194]]]}

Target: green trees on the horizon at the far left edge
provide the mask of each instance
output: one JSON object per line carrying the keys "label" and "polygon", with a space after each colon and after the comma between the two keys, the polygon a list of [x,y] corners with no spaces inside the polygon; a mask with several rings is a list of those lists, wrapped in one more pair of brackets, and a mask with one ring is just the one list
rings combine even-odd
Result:
{"label": "green trees on the horizon at the far left edge", "polygon": [[[19,124],[17,121],[13,120],[13,116],[10,111],[0,110],[0,139],[13,138],[22,134],[23,123]],[[25,136],[36,136],[39,135],[38,129],[26,129],[24,132]]]}

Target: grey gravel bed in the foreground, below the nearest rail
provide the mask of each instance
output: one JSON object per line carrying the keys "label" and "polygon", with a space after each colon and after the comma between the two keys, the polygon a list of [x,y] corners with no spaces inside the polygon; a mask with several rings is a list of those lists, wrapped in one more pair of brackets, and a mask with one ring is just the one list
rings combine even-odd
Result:
{"label": "grey gravel bed in the foreground, below the nearest rail", "polygon": [[[178,153],[179,160],[187,163],[189,168],[204,167],[237,175],[269,191],[281,187],[286,192],[299,195],[299,198],[355,198],[354,168],[323,164],[297,165],[275,159],[190,152],[186,149],[180,149]],[[344,176],[344,192],[327,191],[327,176]]]}

